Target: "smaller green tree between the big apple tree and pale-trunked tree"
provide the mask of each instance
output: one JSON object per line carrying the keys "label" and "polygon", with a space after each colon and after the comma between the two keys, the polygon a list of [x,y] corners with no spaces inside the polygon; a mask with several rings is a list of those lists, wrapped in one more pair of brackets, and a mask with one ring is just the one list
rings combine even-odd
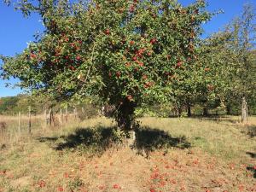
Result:
{"label": "smaller green tree between the big apple tree and pale-trunked tree", "polygon": [[232,33],[228,30],[217,32],[206,38],[201,44],[201,74],[204,79],[197,86],[196,101],[201,103],[203,114],[208,108],[224,107],[225,96],[233,86],[230,81],[234,66],[234,51],[230,49]]}

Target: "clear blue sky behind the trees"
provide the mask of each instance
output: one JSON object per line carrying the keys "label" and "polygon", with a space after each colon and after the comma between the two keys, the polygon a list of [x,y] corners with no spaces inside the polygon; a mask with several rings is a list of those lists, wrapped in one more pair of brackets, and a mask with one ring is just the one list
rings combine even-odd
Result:
{"label": "clear blue sky behind the trees", "polygon": [[[178,0],[183,5],[188,5],[194,2],[194,0]],[[210,22],[204,25],[206,36],[212,32],[217,32],[219,28],[222,28],[236,15],[241,14],[242,5],[247,0],[208,0],[208,10],[218,11],[224,10],[224,14],[215,16]],[[255,3],[254,3],[255,4]],[[26,48],[26,43],[32,41],[33,34],[37,31],[43,31],[44,27],[39,21],[38,15],[32,15],[32,17],[26,19],[23,18],[19,11],[15,11],[12,7],[7,7],[0,2],[0,55],[15,55],[20,53]],[[1,63],[0,63],[1,64]],[[9,82],[17,82],[11,79]],[[6,88],[5,83],[0,79],[0,97],[1,96],[15,96],[21,92],[19,89]]]}

